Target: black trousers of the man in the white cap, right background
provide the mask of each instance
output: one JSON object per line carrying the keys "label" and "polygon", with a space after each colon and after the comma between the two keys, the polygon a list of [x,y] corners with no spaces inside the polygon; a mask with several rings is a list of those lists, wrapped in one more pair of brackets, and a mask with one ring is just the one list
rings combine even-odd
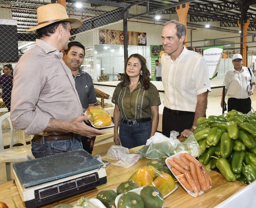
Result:
{"label": "black trousers of the man in the white cap, right background", "polygon": [[246,99],[229,98],[227,100],[227,111],[231,111],[234,109],[242,113],[248,113],[252,109],[251,105],[252,105],[252,101],[250,98],[246,98]]}

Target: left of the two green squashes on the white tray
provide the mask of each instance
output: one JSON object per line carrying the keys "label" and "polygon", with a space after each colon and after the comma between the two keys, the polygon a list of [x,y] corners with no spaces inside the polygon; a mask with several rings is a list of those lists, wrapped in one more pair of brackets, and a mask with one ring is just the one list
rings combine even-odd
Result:
{"label": "left of the two green squashes on the white tray", "polygon": [[144,203],[139,194],[129,191],[125,192],[117,204],[118,208],[144,208]]}

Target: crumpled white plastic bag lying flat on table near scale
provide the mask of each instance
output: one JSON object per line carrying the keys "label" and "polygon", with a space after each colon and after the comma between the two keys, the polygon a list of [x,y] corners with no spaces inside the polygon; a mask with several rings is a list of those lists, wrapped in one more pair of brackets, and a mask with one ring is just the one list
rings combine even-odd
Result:
{"label": "crumpled white plastic bag lying flat on table near scale", "polygon": [[126,147],[112,145],[106,156],[110,160],[118,160],[116,163],[113,163],[115,166],[121,166],[124,168],[129,168],[140,159],[138,154],[129,154],[129,149]]}

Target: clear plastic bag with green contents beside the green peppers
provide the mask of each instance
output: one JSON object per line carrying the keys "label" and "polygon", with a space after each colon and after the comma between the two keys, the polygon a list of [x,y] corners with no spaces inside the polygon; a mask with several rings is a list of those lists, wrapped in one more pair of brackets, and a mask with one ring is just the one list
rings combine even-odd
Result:
{"label": "clear plastic bag with green contents beside the green peppers", "polygon": [[[157,137],[155,136],[158,136],[159,140],[157,140]],[[184,142],[180,142],[177,138],[168,138],[160,133],[157,135],[155,134],[153,137],[155,138],[153,138],[153,141],[149,145],[146,145],[137,151],[141,158],[159,159],[163,156],[170,157],[182,150],[186,150],[194,158],[197,158],[202,154],[198,142],[192,132]],[[152,137],[150,139],[152,139]]]}

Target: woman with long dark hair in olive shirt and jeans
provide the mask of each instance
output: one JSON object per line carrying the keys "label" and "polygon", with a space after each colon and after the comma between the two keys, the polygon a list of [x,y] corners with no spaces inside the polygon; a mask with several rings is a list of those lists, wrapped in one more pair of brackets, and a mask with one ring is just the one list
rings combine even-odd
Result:
{"label": "woman with long dark hair in olive shirt and jeans", "polygon": [[125,60],[123,79],[112,97],[116,145],[120,145],[120,141],[127,148],[145,145],[157,131],[161,101],[150,80],[146,59],[142,55],[132,54]]}

